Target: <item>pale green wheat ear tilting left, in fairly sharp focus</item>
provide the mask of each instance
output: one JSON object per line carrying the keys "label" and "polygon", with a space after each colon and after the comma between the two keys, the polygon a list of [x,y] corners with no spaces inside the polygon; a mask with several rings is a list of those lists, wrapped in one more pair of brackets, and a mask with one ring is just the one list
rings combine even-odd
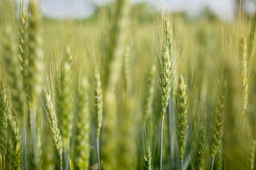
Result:
{"label": "pale green wheat ear tilting left, in fairly sharp focus", "polygon": [[51,95],[44,92],[45,95],[45,111],[47,116],[47,123],[51,129],[52,140],[54,144],[54,152],[58,160],[60,167],[62,166],[62,141],[60,136],[60,129],[58,128],[58,119],[56,115],[56,106],[52,103]]}

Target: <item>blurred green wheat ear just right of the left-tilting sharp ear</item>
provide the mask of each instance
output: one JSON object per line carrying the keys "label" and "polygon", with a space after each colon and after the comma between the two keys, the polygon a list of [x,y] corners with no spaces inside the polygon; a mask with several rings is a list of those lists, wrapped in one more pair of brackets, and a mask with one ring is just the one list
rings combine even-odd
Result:
{"label": "blurred green wheat ear just right of the left-tilting sharp ear", "polygon": [[61,96],[60,96],[60,130],[63,139],[63,146],[68,148],[68,140],[72,135],[72,121],[73,100],[74,100],[74,86],[73,86],[73,71],[72,71],[72,55],[69,46],[67,47],[65,57],[61,67]]}

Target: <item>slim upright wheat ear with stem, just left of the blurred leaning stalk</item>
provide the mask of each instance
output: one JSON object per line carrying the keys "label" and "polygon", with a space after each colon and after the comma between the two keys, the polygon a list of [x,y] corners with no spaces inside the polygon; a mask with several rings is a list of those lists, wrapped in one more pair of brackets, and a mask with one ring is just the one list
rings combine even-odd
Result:
{"label": "slim upright wheat ear with stem, just left of the blurred leaning stalk", "polygon": [[100,137],[100,128],[102,125],[102,89],[100,83],[100,74],[98,71],[94,73],[94,99],[93,99],[93,114],[94,114],[94,125],[96,129],[97,137],[97,153],[98,153],[98,163],[100,169],[100,153],[99,153],[99,137]]}

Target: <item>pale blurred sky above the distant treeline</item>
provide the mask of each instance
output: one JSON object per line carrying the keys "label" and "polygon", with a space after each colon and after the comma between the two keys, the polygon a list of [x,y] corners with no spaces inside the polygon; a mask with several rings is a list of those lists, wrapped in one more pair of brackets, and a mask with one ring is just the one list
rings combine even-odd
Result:
{"label": "pale blurred sky above the distant treeline", "polygon": [[[93,4],[102,4],[108,0],[40,0],[44,15],[54,18],[85,18],[93,13]],[[205,6],[221,18],[230,18],[234,11],[234,0],[131,0],[132,3],[147,2],[157,9],[187,11],[196,15]]]}

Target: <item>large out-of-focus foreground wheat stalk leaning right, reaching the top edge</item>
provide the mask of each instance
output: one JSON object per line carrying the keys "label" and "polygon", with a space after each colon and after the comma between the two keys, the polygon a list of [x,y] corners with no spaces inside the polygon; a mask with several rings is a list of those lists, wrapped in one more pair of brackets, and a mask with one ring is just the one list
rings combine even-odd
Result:
{"label": "large out-of-focus foreground wheat stalk leaning right, reaching the top edge", "polygon": [[114,89],[120,73],[122,73],[122,56],[124,56],[125,43],[127,40],[127,25],[129,19],[129,0],[116,1],[116,13],[113,27],[108,37],[106,60],[104,60],[103,90],[106,100],[106,117],[104,122],[104,134],[108,140],[102,146],[104,157],[104,169],[116,168],[116,96]]}

